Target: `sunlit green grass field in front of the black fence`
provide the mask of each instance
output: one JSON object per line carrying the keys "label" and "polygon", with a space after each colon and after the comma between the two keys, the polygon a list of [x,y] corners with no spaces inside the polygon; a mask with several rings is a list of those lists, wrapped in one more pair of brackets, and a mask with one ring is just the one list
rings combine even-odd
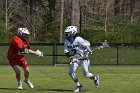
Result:
{"label": "sunlit green grass field in front of the black fence", "polygon": [[[23,83],[24,89],[17,90],[11,67],[0,66],[0,93],[70,93],[75,85],[67,71],[67,66],[31,65],[30,80],[35,88]],[[81,93],[140,93],[140,66],[91,66],[90,72],[100,76],[100,86],[96,88],[93,81],[84,78],[79,68],[76,73],[83,84]]]}

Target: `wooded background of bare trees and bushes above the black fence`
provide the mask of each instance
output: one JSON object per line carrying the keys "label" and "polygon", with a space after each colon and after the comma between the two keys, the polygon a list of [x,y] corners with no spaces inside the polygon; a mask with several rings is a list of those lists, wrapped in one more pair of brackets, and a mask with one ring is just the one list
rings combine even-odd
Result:
{"label": "wooded background of bare trees and bushes above the black fence", "polygon": [[0,0],[1,42],[19,27],[32,42],[63,42],[68,25],[91,42],[140,42],[140,0]]}

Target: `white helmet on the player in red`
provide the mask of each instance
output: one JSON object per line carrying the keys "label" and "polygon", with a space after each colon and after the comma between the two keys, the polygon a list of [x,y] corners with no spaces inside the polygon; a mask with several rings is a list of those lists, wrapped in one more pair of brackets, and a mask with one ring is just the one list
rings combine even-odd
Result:
{"label": "white helmet on the player in red", "polygon": [[18,28],[17,34],[24,40],[28,40],[30,32],[27,28]]}

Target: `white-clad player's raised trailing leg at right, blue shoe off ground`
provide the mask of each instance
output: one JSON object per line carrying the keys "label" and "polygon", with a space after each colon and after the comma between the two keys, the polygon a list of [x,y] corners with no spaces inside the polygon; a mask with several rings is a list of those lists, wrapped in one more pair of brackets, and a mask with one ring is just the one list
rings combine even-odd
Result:
{"label": "white-clad player's raised trailing leg at right, blue shoe off ground", "polygon": [[99,76],[93,75],[92,73],[89,72],[89,65],[90,65],[89,59],[82,60],[81,66],[82,66],[84,76],[86,78],[90,78],[90,79],[94,80],[95,85],[98,87],[99,86]]}

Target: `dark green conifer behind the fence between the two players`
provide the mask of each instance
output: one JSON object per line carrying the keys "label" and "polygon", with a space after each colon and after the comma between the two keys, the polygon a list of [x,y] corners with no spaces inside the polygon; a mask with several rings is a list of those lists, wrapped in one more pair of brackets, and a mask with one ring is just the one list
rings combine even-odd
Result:
{"label": "dark green conifer behind the fence between the two players", "polygon": [[50,12],[42,17],[44,23],[38,27],[37,40],[43,42],[58,42],[58,30]]}

